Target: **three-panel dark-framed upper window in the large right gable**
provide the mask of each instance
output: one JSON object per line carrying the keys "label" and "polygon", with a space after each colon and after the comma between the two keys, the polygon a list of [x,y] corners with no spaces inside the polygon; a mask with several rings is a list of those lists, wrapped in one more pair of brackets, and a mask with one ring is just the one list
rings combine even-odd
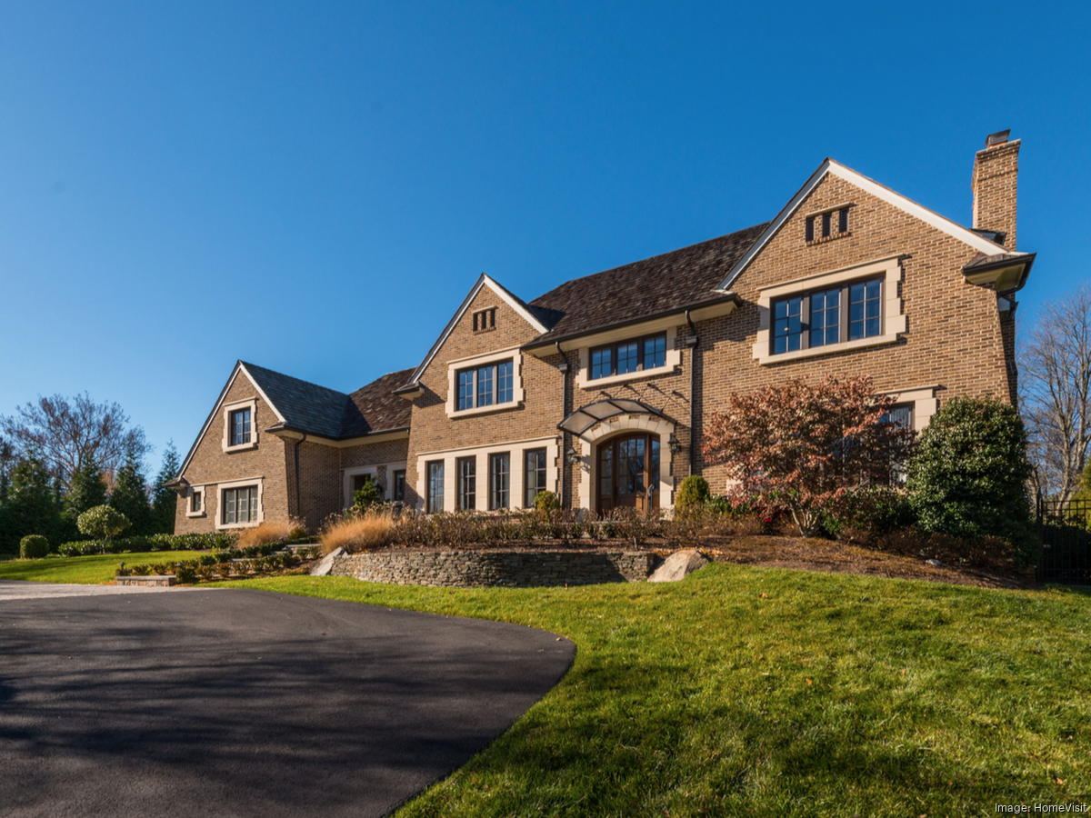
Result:
{"label": "three-panel dark-framed upper window in the large right gable", "polygon": [[772,302],[772,354],[883,334],[883,279]]}

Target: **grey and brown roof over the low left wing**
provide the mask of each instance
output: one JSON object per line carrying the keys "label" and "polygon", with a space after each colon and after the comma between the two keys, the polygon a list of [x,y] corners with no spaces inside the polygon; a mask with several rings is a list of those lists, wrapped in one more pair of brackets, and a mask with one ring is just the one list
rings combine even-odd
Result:
{"label": "grey and brown roof over the low left wing", "polygon": [[339,441],[409,425],[412,406],[391,389],[404,383],[412,370],[383,375],[346,395],[264,366],[241,363],[284,416],[285,425],[297,432]]}

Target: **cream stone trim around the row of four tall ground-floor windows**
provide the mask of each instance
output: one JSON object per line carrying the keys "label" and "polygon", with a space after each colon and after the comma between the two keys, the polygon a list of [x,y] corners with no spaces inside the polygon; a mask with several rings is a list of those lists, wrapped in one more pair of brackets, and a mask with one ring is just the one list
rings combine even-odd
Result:
{"label": "cream stone trim around the row of four tall ground-floor windows", "polygon": [[458,502],[458,474],[455,470],[455,461],[464,457],[477,458],[477,486],[475,497],[475,510],[488,512],[489,509],[489,455],[506,452],[511,455],[507,481],[507,509],[516,510],[523,508],[523,488],[526,479],[526,458],[524,453],[527,449],[546,449],[546,485],[549,491],[558,493],[560,480],[560,469],[558,458],[561,454],[561,446],[556,437],[540,437],[532,441],[512,441],[508,443],[496,443],[489,446],[476,446],[468,448],[451,449],[447,452],[429,452],[417,457],[417,504],[418,508],[424,509],[428,501],[428,464],[435,460],[443,460],[443,509],[451,512],[457,508]]}

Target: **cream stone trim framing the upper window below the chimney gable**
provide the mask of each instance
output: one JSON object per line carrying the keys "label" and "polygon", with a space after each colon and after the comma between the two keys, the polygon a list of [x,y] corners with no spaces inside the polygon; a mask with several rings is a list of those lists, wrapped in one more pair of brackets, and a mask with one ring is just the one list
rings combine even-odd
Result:
{"label": "cream stone trim framing the upper window below the chimney gable", "polygon": [[[758,309],[760,318],[757,330],[757,338],[754,341],[754,360],[763,366],[782,363],[784,361],[796,361],[801,358],[815,358],[817,356],[844,352],[851,349],[863,349],[865,347],[878,347],[894,344],[898,340],[898,335],[908,330],[908,318],[902,309],[902,300],[898,296],[898,284],[902,278],[900,264],[901,256],[892,255],[888,258],[880,258],[874,262],[856,264],[851,267],[836,269],[830,273],[796,278],[792,281],[778,284],[774,287],[766,287],[758,293]],[[810,349],[798,349],[792,352],[781,352],[772,354],[770,352],[770,333],[772,324],[772,302],[775,299],[784,296],[803,294],[813,290],[820,290],[835,284],[846,284],[856,279],[870,278],[883,274],[883,334],[871,338],[858,338],[855,340],[841,341],[839,344],[827,344],[823,347]],[[843,308],[842,308],[843,309]],[[596,382],[597,383],[597,382]]]}

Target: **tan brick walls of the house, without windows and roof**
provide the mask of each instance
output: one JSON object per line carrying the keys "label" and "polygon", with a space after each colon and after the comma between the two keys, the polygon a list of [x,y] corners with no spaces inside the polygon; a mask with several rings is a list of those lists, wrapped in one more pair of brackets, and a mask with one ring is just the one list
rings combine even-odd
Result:
{"label": "tan brick walls of the house, without windows and roof", "polygon": [[[851,171],[816,175],[818,181],[804,189],[808,192],[794,203],[793,210],[783,212],[790,215],[764,244],[754,245],[747,238],[746,248],[759,249],[740,262],[741,272],[729,282],[733,303],[723,296],[690,320],[684,311],[675,310],[649,315],[628,329],[580,329],[580,335],[558,341],[562,350],[558,351],[552,342],[547,346],[541,340],[546,329],[538,314],[482,277],[483,284],[476,285],[458,321],[417,373],[418,394],[411,396],[408,433],[377,434],[367,445],[309,437],[297,446],[301,435],[278,432],[285,437],[280,440],[260,431],[256,448],[227,454],[220,443],[221,420],[216,420],[184,477],[192,485],[261,477],[265,518],[291,515],[313,530],[343,509],[352,477],[363,471],[388,491],[393,469],[405,468],[406,503],[423,507],[429,462],[444,464],[443,507],[451,510],[457,506],[456,467],[459,459],[471,459],[477,478],[475,507],[488,508],[490,457],[502,454],[511,456],[508,507],[520,507],[529,490],[518,473],[523,456],[529,449],[544,448],[547,488],[560,490],[565,505],[594,507],[598,446],[614,435],[644,431],[659,440],[658,503],[670,507],[679,482],[691,471],[705,474],[714,491],[726,488],[723,470],[704,465],[699,429],[734,393],[791,377],[816,381],[826,375],[866,374],[878,390],[897,394],[913,408],[918,428],[954,396],[995,396],[1014,402],[1015,322],[1010,316],[1002,320],[996,292],[969,284],[963,268],[971,260],[987,255],[984,251],[1015,248],[1018,147],[1015,142],[987,148],[976,155],[974,165],[975,224],[1006,231],[1003,249]],[[808,218],[820,225],[823,214],[834,213],[840,226],[842,210],[848,212],[847,230],[834,229],[828,237],[818,230],[808,240]],[[754,234],[762,229],[757,226]],[[728,273],[724,268],[723,275]],[[783,357],[771,353],[769,313],[776,298],[813,288],[850,287],[864,277],[883,282],[878,336],[851,341],[842,337],[832,347]],[[842,303],[840,309],[849,308]],[[596,345],[660,332],[667,335],[669,350],[662,368],[636,376],[588,380],[589,350]],[[688,342],[694,335],[696,346]],[[536,339],[538,346],[529,346]],[[500,360],[514,363],[515,400],[458,411],[453,394],[457,371]],[[563,362],[568,364],[566,374]],[[251,399],[254,393],[253,385],[240,376],[226,400]],[[574,410],[608,398],[639,400],[661,417],[646,412],[619,417],[582,440],[559,431],[559,423]],[[264,430],[275,421],[272,409],[259,400],[255,428]],[[674,455],[669,448],[672,434],[680,448]],[[579,459],[575,465],[565,457],[570,447]],[[218,513],[216,492],[208,492],[203,516],[188,516],[185,509],[182,497],[176,530],[212,530]]]}

